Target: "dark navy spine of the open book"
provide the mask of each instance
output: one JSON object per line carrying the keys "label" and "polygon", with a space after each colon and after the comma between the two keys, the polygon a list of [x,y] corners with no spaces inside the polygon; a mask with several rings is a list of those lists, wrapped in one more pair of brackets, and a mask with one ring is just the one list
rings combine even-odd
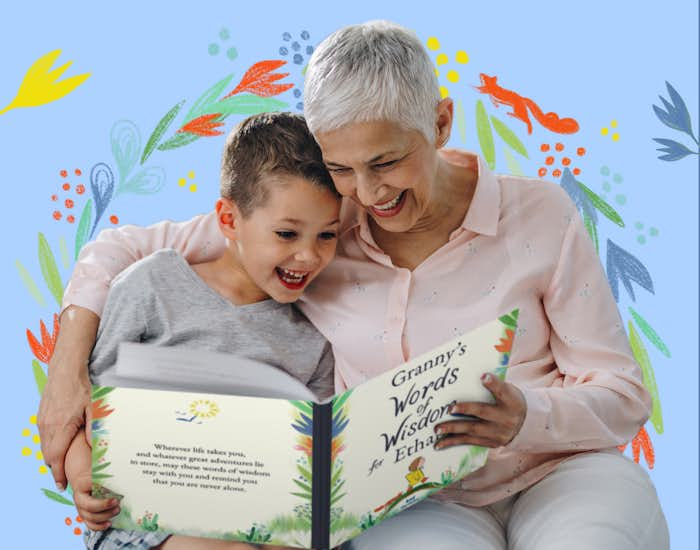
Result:
{"label": "dark navy spine of the open book", "polygon": [[314,403],[311,546],[316,550],[330,546],[332,422],[333,404]]}

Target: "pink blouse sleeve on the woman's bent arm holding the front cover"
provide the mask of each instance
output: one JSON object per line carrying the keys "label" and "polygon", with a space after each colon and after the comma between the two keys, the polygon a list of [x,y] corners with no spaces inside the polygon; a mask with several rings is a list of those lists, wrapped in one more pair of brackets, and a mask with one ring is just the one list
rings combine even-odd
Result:
{"label": "pink blouse sleeve on the woman's bent arm holding the front cover", "polygon": [[526,416],[506,447],[557,452],[629,441],[646,422],[651,398],[598,254],[573,205],[543,304],[563,383],[520,387]]}

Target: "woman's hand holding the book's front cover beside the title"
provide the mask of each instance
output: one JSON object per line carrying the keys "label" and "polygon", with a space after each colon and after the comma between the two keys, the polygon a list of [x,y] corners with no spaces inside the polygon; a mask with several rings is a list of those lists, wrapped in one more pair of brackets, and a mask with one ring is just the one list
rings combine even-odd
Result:
{"label": "woman's hand holding the book's front cover beside the title", "polygon": [[525,397],[513,384],[504,382],[493,374],[481,377],[482,384],[496,399],[495,403],[456,403],[450,413],[471,415],[473,420],[450,420],[435,426],[441,439],[436,449],[453,445],[481,445],[502,447],[518,434],[525,420]]}

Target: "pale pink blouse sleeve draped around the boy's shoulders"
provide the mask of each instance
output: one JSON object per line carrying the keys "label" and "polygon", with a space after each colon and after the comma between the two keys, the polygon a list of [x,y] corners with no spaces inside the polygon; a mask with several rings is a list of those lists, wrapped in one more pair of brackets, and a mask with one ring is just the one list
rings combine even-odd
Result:
{"label": "pale pink blouse sleeve draped around the boy's shoulders", "polygon": [[125,225],[101,231],[81,250],[61,310],[77,305],[101,316],[112,280],[137,260],[162,248],[177,250],[189,263],[218,258],[224,250],[224,237],[215,213],[179,223],[163,221],[148,227]]}

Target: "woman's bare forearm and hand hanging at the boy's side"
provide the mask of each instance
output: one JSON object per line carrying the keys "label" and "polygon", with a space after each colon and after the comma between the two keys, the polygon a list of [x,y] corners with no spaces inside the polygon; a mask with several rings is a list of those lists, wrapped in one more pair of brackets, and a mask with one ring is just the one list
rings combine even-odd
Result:
{"label": "woman's bare forearm and hand hanging at the boy's side", "polygon": [[99,322],[99,317],[85,308],[71,306],[63,312],[39,403],[41,452],[61,491],[66,488],[64,461],[68,446],[83,425],[88,432],[90,428],[92,388],[87,364]]}

